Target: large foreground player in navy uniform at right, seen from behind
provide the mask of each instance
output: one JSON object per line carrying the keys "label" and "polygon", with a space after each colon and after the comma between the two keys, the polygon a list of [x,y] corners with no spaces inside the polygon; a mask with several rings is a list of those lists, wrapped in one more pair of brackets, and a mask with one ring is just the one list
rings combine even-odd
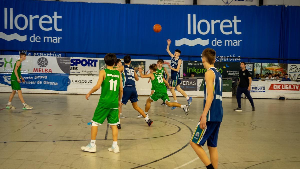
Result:
{"label": "large foreground player in navy uniform at right, seen from behind", "polygon": [[[205,72],[204,109],[199,123],[190,139],[190,145],[195,150],[206,168],[218,168],[217,140],[220,124],[223,118],[222,107],[222,77],[214,67],[216,52],[206,48],[202,52],[202,63]],[[207,141],[210,160],[202,146]]]}

